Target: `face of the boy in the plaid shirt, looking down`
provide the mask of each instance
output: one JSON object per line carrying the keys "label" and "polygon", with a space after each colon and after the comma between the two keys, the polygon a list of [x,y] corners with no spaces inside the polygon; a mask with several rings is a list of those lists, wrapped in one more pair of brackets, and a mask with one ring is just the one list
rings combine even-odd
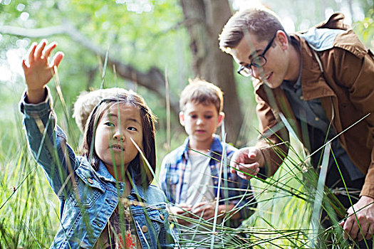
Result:
{"label": "face of the boy in the plaid shirt, looking down", "polygon": [[221,125],[223,113],[218,114],[213,104],[187,102],[180,112],[180,124],[185,127],[192,142],[212,142],[212,135]]}

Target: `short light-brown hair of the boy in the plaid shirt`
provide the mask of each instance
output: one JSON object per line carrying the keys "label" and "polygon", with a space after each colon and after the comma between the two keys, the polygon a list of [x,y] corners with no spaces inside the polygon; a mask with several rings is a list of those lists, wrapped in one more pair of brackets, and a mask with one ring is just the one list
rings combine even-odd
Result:
{"label": "short light-brown hair of the boy in the plaid shirt", "polygon": [[180,110],[185,110],[187,102],[210,105],[216,107],[217,112],[222,112],[224,105],[224,97],[222,90],[212,83],[205,80],[195,78],[189,79],[189,84],[182,90],[180,94]]}

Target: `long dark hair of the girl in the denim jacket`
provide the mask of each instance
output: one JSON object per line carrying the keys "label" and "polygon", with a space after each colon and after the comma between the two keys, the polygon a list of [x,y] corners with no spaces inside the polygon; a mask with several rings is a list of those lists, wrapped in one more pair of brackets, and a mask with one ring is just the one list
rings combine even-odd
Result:
{"label": "long dark hair of the girl in the denim jacket", "polygon": [[[85,129],[82,141],[82,153],[83,156],[90,161],[93,169],[98,170],[100,164],[100,159],[95,152],[95,133],[98,126],[98,122],[103,117],[105,110],[111,105],[115,104],[125,104],[133,105],[139,108],[140,118],[142,120],[142,144],[137,144],[143,151],[145,158],[150,164],[152,171],[156,171],[156,149],[155,149],[155,115],[153,115],[150,108],[145,103],[145,100],[133,91],[128,91],[126,93],[118,93],[110,97],[105,97],[101,102],[93,109],[85,123]],[[130,162],[128,166],[128,171],[132,174],[135,184],[149,185],[153,180],[153,175],[151,174],[148,166],[142,161],[140,154],[138,153],[135,159]]]}

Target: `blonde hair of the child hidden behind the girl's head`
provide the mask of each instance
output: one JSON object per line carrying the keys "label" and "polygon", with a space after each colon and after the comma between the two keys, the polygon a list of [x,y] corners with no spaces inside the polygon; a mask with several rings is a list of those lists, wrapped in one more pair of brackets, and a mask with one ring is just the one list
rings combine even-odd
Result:
{"label": "blonde hair of the child hidden behind the girl's head", "polygon": [[103,98],[115,95],[118,93],[128,93],[128,90],[123,88],[106,88],[93,90],[91,92],[80,92],[76,102],[74,103],[73,118],[76,120],[76,124],[81,132],[83,132],[85,127],[85,122],[87,122],[88,116],[92,112],[98,103],[100,103]]}

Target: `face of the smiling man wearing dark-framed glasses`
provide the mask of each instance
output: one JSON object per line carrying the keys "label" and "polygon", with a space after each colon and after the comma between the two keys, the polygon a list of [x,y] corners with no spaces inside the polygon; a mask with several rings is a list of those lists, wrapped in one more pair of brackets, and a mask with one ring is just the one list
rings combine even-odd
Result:
{"label": "face of the smiling man wearing dark-framed glasses", "polygon": [[[283,80],[287,80],[289,74],[289,43],[286,46],[286,36],[276,34],[271,46],[264,54],[266,63],[261,67],[251,66],[252,76],[269,85],[270,88],[278,88]],[[259,41],[255,35],[250,33],[241,39],[238,46],[232,48],[232,56],[239,65],[249,66],[257,56],[264,52],[264,49],[271,41]]]}

